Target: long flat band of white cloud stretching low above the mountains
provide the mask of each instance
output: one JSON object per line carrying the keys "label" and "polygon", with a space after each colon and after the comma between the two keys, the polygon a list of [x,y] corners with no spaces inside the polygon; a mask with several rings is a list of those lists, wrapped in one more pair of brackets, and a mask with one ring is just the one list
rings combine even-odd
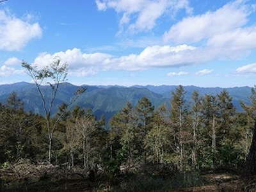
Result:
{"label": "long flat band of white cloud stretching low above the mountains", "polygon": [[[35,58],[33,65],[45,67],[54,58],[58,57],[63,63],[68,63],[70,75],[90,76],[107,70],[147,70],[148,68],[195,65],[211,60],[236,59],[239,56],[239,52],[230,52],[229,47],[223,49],[207,47],[202,49],[202,47],[189,45],[175,47],[155,45],[146,47],[138,54],[114,56],[102,52],[86,53],[74,48],[54,54],[44,52]],[[196,75],[204,75],[211,72],[212,70],[205,69],[197,72]]]}

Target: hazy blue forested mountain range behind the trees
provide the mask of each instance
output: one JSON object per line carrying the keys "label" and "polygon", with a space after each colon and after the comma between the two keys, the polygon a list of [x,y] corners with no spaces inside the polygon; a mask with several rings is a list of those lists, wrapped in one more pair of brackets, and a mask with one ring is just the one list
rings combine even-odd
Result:
{"label": "hazy blue forested mountain range behind the trees", "polygon": [[[105,115],[107,119],[111,118],[117,111],[125,106],[127,101],[136,105],[141,97],[148,97],[156,106],[166,104],[170,106],[171,93],[177,88],[175,85],[161,85],[161,86],[90,86],[87,87],[86,92],[76,100],[72,107],[79,105],[82,108],[91,108],[97,117]],[[56,102],[54,102],[54,112],[57,111],[58,106],[63,102],[69,102],[74,92],[79,86],[70,83],[63,83],[60,86],[60,91],[57,94]],[[220,93],[223,88],[200,88],[197,86],[184,86],[186,90],[186,100],[191,102],[192,93],[197,90],[200,95],[211,94],[216,95]],[[51,88],[49,86],[42,86],[42,89],[47,94]],[[225,88],[233,97],[234,106],[238,111],[241,111],[239,104],[240,100],[248,103],[251,93],[249,86]],[[35,84],[20,82],[13,84],[0,85],[0,102],[5,103],[10,93],[16,92],[19,98],[24,102],[26,111],[33,111],[34,113],[43,114],[42,102],[40,95],[36,90]]]}

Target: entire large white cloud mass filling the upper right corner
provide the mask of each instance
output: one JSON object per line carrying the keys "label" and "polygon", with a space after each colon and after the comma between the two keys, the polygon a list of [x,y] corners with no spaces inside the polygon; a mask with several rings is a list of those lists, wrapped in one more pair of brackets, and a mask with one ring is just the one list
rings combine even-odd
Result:
{"label": "entire large white cloud mass filling the upper right corner", "polygon": [[255,10],[247,2],[236,0],[215,12],[185,17],[164,33],[163,40],[198,44],[201,62],[240,58],[256,48],[256,27],[249,24]]}

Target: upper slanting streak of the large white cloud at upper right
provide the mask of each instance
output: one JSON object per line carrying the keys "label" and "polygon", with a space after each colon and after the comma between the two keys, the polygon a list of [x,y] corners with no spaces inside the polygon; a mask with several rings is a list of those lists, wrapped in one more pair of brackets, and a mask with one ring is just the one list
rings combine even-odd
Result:
{"label": "upper slanting streak of the large white cloud at upper right", "polygon": [[193,43],[244,26],[250,15],[241,1],[228,3],[215,12],[186,17],[164,33],[166,42]]}

